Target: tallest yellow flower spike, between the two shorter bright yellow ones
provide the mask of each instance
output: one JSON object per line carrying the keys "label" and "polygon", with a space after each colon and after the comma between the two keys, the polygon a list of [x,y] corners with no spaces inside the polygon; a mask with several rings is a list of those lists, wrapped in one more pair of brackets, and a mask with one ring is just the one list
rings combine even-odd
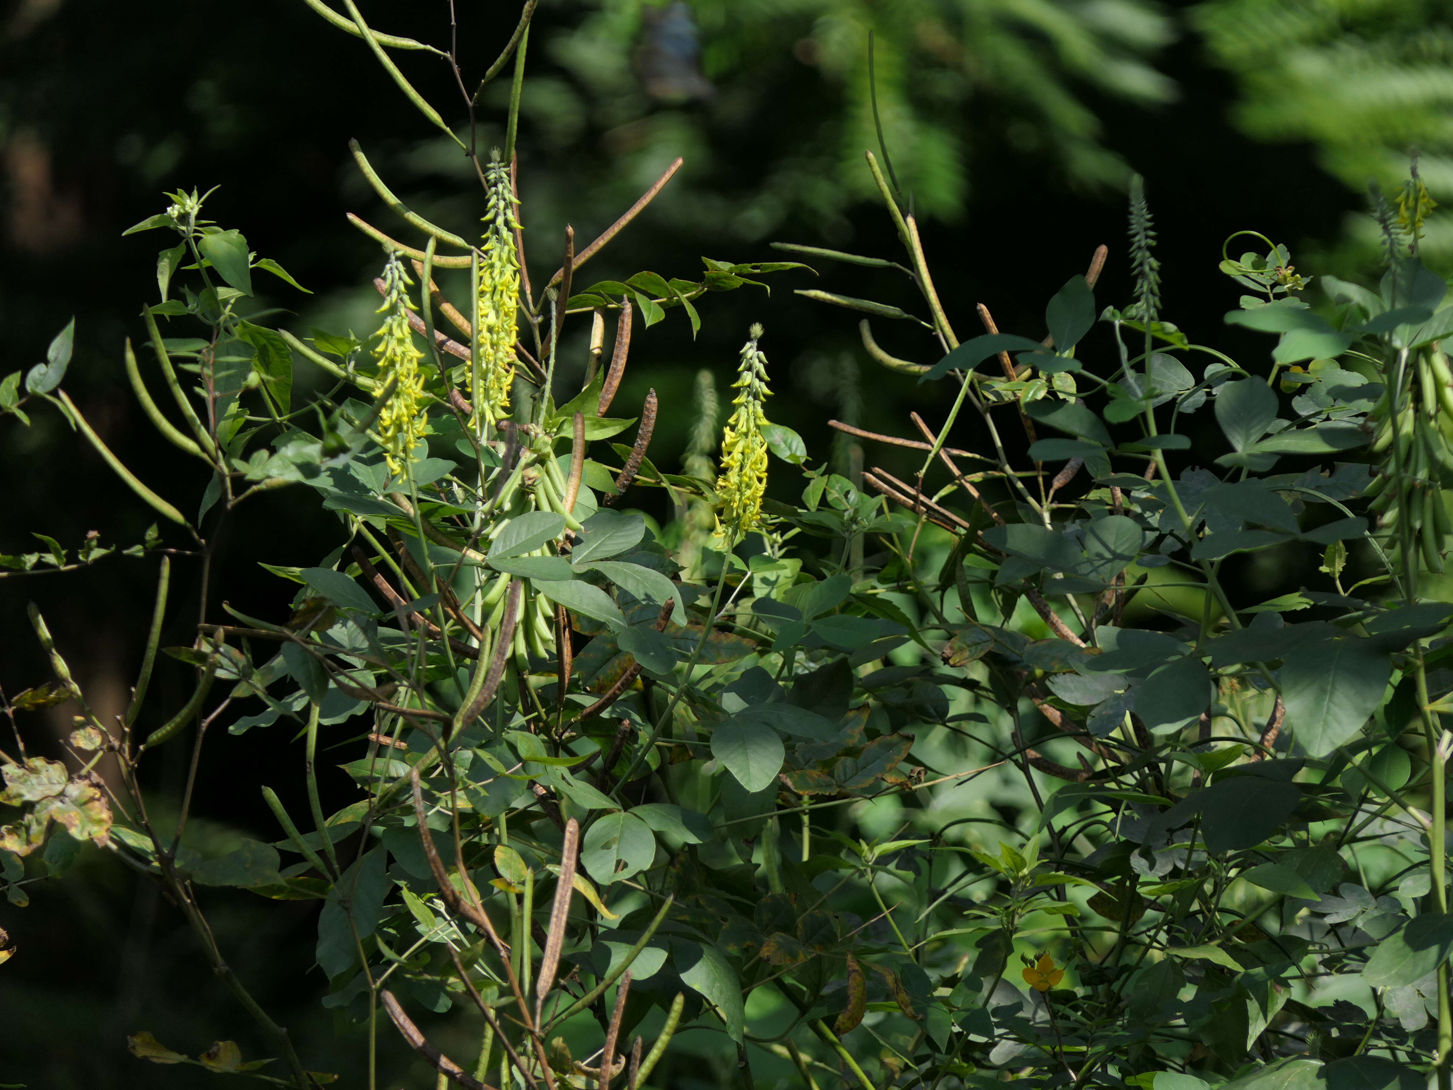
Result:
{"label": "tallest yellow flower spike, between the two shorter bright yellow ones", "polygon": [[[485,170],[490,199],[484,212],[484,244],[479,262],[479,360],[475,414],[485,427],[510,416],[510,387],[514,384],[514,342],[519,339],[520,256],[514,249],[514,187],[510,167],[495,158]],[[564,305],[564,301],[562,304]]]}

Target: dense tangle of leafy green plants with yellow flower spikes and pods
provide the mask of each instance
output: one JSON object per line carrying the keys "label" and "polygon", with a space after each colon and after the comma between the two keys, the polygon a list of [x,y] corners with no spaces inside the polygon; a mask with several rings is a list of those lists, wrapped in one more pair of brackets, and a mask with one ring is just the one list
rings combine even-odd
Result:
{"label": "dense tangle of leafy green plants with yellow flower spikes and pods", "polygon": [[[513,157],[533,3],[487,73],[513,60],[498,156],[394,62],[455,55],[372,29],[352,0],[308,3],[474,158],[482,240],[414,214],[355,147],[407,241],[353,217],[384,250],[381,330],[301,337],[250,304],[257,270],[302,291],[286,270],[205,219],[205,195],[169,195],[132,228],[179,241],[121,356],[151,423],[211,469],[185,501],[131,474],[64,391],[70,326],[0,381],[16,426],[58,411],[161,516],[121,551],[158,573],[126,711],[92,709],[32,607],[52,677],[4,695],[0,748],[10,903],[90,841],[167,889],[235,1000],[195,1057],[139,1014],[139,1059],[334,1078],[232,972],[205,887],[208,904],[315,908],[298,980],[353,1033],[369,1090],[381,1057],[410,1052],[439,1086],[495,1090],[1449,1086],[1453,914],[1431,847],[1453,744],[1453,301],[1418,260],[1415,185],[1375,209],[1376,289],[1299,275],[1261,235],[1222,254],[1245,292],[1226,321],[1276,336],[1239,363],[1162,315],[1139,180],[1133,298],[1096,299],[1101,247],[1023,336],[939,298],[911,203],[869,153],[905,263],[777,246],[905,273],[917,302],[804,294],[902,321],[912,358],[869,318],[863,350],[943,384],[943,419],[912,414],[908,436],[833,421],[850,456],[814,465],[763,416],[754,327],[725,439],[708,376],[668,472],[649,458],[655,392],[610,414],[632,336],[673,310],[695,331],[711,292],[805,266],[706,259],[699,280],[577,288],[673,164],[596,241],[567,233],[542,275]],[[464,308],[446,272],[468,278]],[[567,389],[570,321],[591,333]],[[294,404],[307,368],[333,385]],[[1215,440],[1197,448],[1184,419],[1205,410]],[[882,468],[885,446],[918,469]],[[222,605],[163,648],[173,577],[225,599],[206,584],[215,542],[275,488],[331,513],[337,548],[269,568],[296,587],[286,616]],[[638,488],[676,522],[632,510]],[[122,562],[99,538],[41,542],[0,558],[3,577]],[[1237,554],[1308,546],[1315,589],[1254,602],[1225,574]],[[158,651],[192,673],[180,701],[153,690]],[[26,748],[62,703],[76,772]],[[174,823],[138,786],[166,744],[193,748]],[[307,812],[259,783],[275,839],[203,855],[187,833],[203,746],[294,754]],[[353,782],[341,808],[318,789],[324,759]],[[449,1012],[464,1054],[437,1043]],[[270,1058],[230,1039],[244,1017]]]}

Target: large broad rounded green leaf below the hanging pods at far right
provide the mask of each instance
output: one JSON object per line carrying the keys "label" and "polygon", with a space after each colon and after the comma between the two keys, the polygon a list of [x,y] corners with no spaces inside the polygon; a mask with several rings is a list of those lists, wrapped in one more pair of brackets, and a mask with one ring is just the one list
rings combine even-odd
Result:
{"label": "large broad rounded green leaf below the hanging pods at far right", "polygon": [[1287,727],[1312,757],[1357,737],[1382,702],[1392,661],[1370,641],[1348,637],[1299,648],[1282,666]]}

